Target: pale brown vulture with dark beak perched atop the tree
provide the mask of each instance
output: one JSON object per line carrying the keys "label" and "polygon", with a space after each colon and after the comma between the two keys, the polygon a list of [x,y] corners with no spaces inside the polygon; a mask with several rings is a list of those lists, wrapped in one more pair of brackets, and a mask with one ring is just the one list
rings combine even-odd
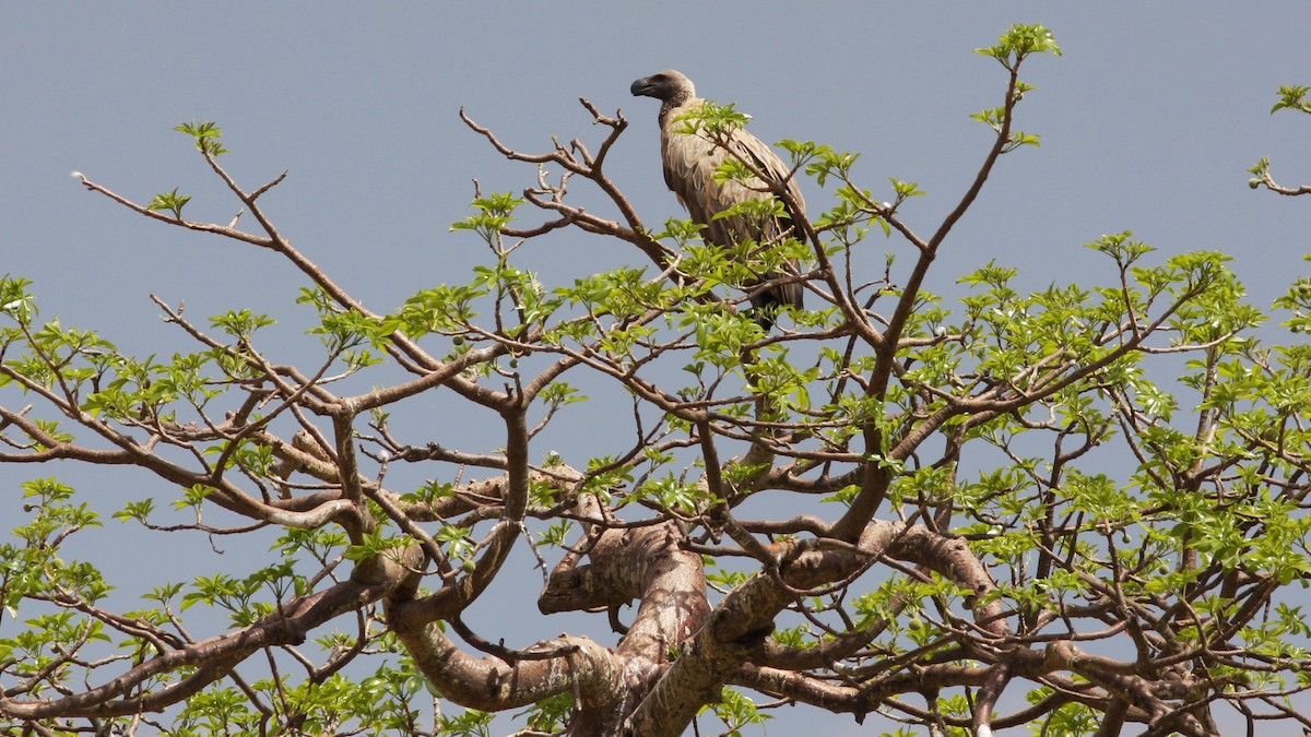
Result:
{"label": "pale brown vulture with dark beak perched atop the tree", "polygon": [[[800,223],[806,216],[801,188],[797,186],[794,177],[788,177],[791,168],[763,140],[738,129],[733,131],[725,148],[716,146],[704,135],[683,132],[687,121],[680,121],[679,117],[699,109],[705,101],[696,97],[692,80],[682,72],[666,70],[642,77],[633,83],[629,92],[635,97],[654,97],[661,101],[659,151],[665,167],[665,184],[678,195],[678,202],[692,220],[703,227],[701,235],[708,243],[725,248],[745,240],[766,244],[788,232],[793,223]],[[714,181],[714,169],[728,159],[728,151],[733,151],[755,170],[770,177],[770,184],[755,177],[746,182]],[[772,198],[770,185],[784,180],[787,191],[796,203],[794,209],[787,206],[787,219],[770,218],[763,223],[743,216],[716,219],[717,214],[741,202]],[[787,304],[801,307],[801,282],[768,283],[781,277],[784,274],[768,271],[747,285],[758,287],[751,292],[751,307],[756,323],[766,330],[773,325],[779,307]]]}

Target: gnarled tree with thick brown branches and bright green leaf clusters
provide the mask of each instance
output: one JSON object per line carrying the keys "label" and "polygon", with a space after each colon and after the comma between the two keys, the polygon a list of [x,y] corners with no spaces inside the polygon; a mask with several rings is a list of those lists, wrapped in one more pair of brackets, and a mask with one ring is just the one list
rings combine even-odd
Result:
{"label": "gnarled tree with thick brown branches and bright green leaf clusters", "polygon": [[[278,363],[270,317],[205,325],[157,300],[194,350],[127,357],[41,323],[25,279],[0,282],[0,460],[134,467],[173,510],[143,497],[113,511],[119,523],[275,540],[248,572],[160,581],[115,611],[96,561],[63,555],[101,511],[54,477],[26,483],[28,518],[0,551],[0,725],[482,734],[490,712],[514,709],[522,734],[716,720],[735,734],[768,719],[764,699],[932,734],[1311,727],[1295,700],[1311,627],[1290,589],[1311,574],[1311,348],[1265,342],[1277,330],[1223,254],[1155,258],[1127,232],[1088,244],[1106,286],[1021,294],[1015,269],[990,264],[944,307],[926,275],[994,167],[1038,143],[1015,127],[1033,89],[1019,72],[1061,50],[1015,26],[979,51],[1006,71],[1002,104],[974,115],[995,136],[941,223],[902,219],[914,182],[891,180],[882,202],[853,181],[855,155],[785,140],[794,176],[832,205],[777,243],[739,244],[750,260],[688,222],[642,224],[606,170],[621,117],[582,101],[600,144],[540,155],[465,118],[534,165],[535,185],[479,193],[455,229],[492,260],[389,313],[292,248],[260,202],[282,178],[235,181],[212,123],[178,130],[252,229],[185,219],[177,189],[143,205],[83,178],[295,265],[324,351]],[[686,125],[724,140],[745,122],[712,106]],[[750,181],[751,164],[722,176]],[[579,182],[616,219],[566,201]],[[515,224],[522,209],[536,224]],[[654,268],[548,287],[515,252],[552,232],[604,236]],[[871,264],[880,235],[895,258]],[[767,334],[732,287],[791,258],[810,309]],[[1311,282],[1276,308],[1304,329]],[[590,456],[544,451],[535,439],[589,386],[629,405],[598,410]],[[396,421],[434,395],[493,420],[501,447]],[[430,480],[395,487],[409,468]],[[480,635],[464,612],[510,574],[515,547],[543,567],[544,615],[594,612],[614,636],[514,649]],[[224,616],[224,632],[193,636],[197,614]],[[469,711],[446,716],[447,702]]]}

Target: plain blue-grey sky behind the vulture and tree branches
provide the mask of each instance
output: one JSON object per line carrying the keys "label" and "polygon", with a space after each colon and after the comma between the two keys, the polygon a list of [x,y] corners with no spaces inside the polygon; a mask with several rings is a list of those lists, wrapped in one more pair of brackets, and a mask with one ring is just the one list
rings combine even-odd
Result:
{"label": "plain blue-grey sky behind the vulture and tree branches", "polygon": [[[1124,229],[1163,254],[1231,253],[1262,307],[1306,273],[1311,199],[1253,193],[1244,172],[1270,155],[1277,178],[1311,181],[1311,119],[1268,114],[1281,84],[1311,83],[1304,1],[8,3],[0,273],[34,279],[43,316],[102,330],[128,353],[181,348],[152,292],[185,300],[194,316],[273,312],[288,323],[291,345],[305,313],[292,304],[303,282],[290,265],[146,222],[68,173],[143,202],[180,188],[194,197],[189,218],[225,223],[236,203],[172,131],[218,121],[232,151],[224,163],[244,184],[290,170],[265,199],[281,229],[387,309],[464,281],[485,257],[473,239],[448,232],[467,212],[473,178],[486,190],[532,184],[531,169],[460,123],[461,106],[505,142],[543,151],[551,136],[599,140],[578,97],[620,109],[632,126],[611,174],[648,223],[682,216],[661,180],[656,102],[628,93],[633,79],[669,67],[701,96],[750,113],[766,140],[861,152],[857,176],[876,194],[888,177],[919,182],[929,195],[902,214],[929,229],[990,143],[969,114],[1000,104],[1003,71],[973,50],[1012,22],[1044,24],[1065,49],[1023,75],[1037,90],[1019,127],[1042,147],[1003,159],[932,289],[990,260],[1020,266],[1030,287],[1104,283],[1109,262],[1082,244]],[[808,199],[825,195],[810,186]],[[642,261],[582,235],[543,243],[524,258],[548,285]],[[66,469],[0,468],[0,510],[17,504],[21,480],[52,472]],[[126,498],[166,493],[102,477],[79,488],[106,514]],[[821,720],[780,717],[771,733],[797,724]],[[842,734],[851,724],[840,717],[826,729]]]}

